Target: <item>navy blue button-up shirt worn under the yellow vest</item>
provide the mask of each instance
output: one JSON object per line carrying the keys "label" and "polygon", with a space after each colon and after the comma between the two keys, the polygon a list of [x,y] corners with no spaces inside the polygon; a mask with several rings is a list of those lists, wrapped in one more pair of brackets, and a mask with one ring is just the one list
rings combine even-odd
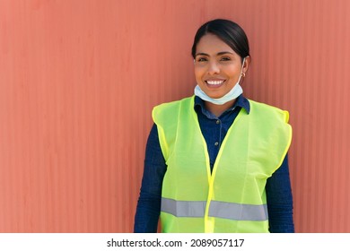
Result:
{"label": "navy blue button-up shirt worn under the yellow vest", "polygon": [[[214,161],[223,143],[223,139],[234,119],[244,108],[249,114],[249,100],[243,95],[237,98],[232,108],[215,117],[205,108],[204,101],[195,97],[195,110],[213,169]],[[140,196],[136,207],[134,232],[157,232],[158,220],[161,212],[162,179],[167,166],[159,143],[157,126],[154,124],[149,134],[144,160],[144,177]],[[289,177],[288,157],[279,169],[267,179],[267,212],[269,231],[272,233],[294,232],[293,224],[293,196]]]}

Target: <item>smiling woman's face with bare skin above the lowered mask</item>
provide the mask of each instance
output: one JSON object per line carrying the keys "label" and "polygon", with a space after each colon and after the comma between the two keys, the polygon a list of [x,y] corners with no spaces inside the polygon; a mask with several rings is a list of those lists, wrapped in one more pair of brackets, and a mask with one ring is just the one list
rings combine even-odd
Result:
{"label": "smiling woman's face with bare skin above the lowered mask", "polygon": [[[248,69],[249,60],[245,62],[242,73]],[[206,34],[197,43],[196,81],[210,98],[218,99],[231,91],[240,78],[241,67],[241,56],[214,34]]]}

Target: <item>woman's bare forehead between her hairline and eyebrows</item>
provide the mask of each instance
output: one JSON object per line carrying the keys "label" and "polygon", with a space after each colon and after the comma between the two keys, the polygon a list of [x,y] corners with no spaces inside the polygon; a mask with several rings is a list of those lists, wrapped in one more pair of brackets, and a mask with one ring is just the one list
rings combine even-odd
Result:
{"label": "woman's bare forehead between her hairline and eyebrows", "polygon": [[196,53],[217,54],[223,51],[236,54],[230,46],[214,34],[204,35],[197,43]]}

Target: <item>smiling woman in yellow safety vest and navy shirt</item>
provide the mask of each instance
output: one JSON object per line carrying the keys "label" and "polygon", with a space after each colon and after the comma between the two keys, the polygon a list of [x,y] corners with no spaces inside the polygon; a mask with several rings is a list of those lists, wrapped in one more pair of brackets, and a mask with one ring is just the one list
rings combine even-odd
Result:
{"label": "smiling woman in yellow safety vest and navy shirt", "polygon": [[288,113],[247,100],[244,30],[206,22],[192,47],[195,95],[153,108],[135,232],[293,232]]}

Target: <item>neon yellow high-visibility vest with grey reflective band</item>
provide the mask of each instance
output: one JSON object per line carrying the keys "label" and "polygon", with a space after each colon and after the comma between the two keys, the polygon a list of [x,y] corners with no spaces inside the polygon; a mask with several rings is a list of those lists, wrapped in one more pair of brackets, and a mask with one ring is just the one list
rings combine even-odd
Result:
{"label": "neon yellow high-visibility vest with grey reflective band", "polygon": [[249,100],[228,130],[211,172],[194,96],[153,108],[167,171],[162,232],[268,232],[267,178],[292,141],[289,114]]}

